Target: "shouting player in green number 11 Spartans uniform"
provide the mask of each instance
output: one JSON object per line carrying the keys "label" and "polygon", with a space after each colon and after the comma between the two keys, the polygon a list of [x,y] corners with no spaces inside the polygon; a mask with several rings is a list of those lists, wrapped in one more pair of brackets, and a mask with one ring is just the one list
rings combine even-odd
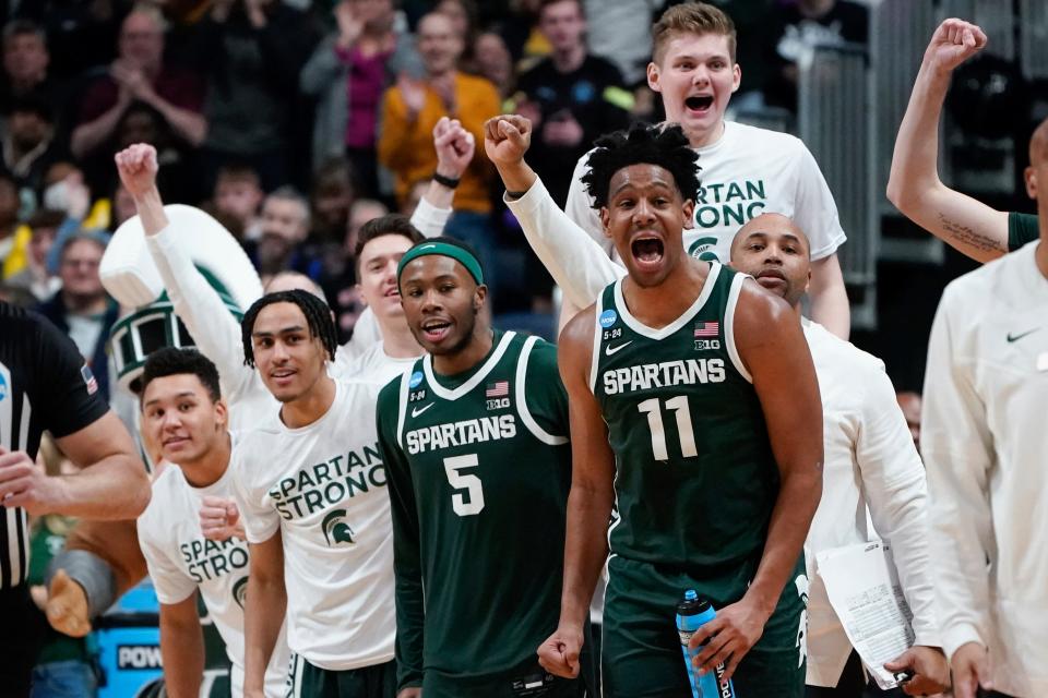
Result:
{"label": "shouting player in green number 11 Spartans uniform", "polygon": [[[520,143],[492,129],[520,132],[489,122],[498,163]],[[699,663],[724,663],[739,695],[800,697],[801,547],[822,484],[819,387],[800,324],[745,276],[688,254],[699,182],[678,127],[607,136],[590,167],[628,277],[561,335],[574,468],[560,624],[539,648],[543,665],[577,671],[607,558],[609,695],[690,695],[674,610],[695,589],[717,610],[692,638],[706,645]]]}

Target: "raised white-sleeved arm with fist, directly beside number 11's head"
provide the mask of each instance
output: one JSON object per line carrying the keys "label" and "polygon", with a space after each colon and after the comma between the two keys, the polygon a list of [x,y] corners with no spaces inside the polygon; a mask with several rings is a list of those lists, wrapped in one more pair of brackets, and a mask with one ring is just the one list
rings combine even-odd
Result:
{"label": "raised white-sleeved arm with fist, directly beside number 11's head", "polygon": [[626,269],[557,206],[524,160],[531,140],[532,122],[524,117],[502,115],[485,123],[484,149],[505,185],[507,205],[565,301],[586,308],[604,287],[626,276]]}

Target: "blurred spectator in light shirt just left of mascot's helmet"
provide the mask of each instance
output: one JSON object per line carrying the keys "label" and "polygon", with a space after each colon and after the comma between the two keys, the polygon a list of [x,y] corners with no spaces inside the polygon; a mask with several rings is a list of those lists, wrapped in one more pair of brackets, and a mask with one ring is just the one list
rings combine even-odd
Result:
{"label": "blurred spectator in light shirt just left of mascot's helmet", "polygon": [[106,342],[119,308],[106,294],[98,265],[106,245],[98,236],[73,236],[62,246],[59,277],[62,288],[39,306],[41,315],[69,335],[109,400],[109,358]]}

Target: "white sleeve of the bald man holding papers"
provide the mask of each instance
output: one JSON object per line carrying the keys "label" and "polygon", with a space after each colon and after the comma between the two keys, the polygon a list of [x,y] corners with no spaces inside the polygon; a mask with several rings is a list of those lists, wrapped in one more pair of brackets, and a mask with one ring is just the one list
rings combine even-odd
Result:
{"label": "white sleeve of the bald man holding papers", "polygon": [[883,368],[865,372],[862,420],[855,458],[878,534],[889,542],[906,602],[914,613],[915,642],[940,647],[928,552],[928,488],[895,388]]}

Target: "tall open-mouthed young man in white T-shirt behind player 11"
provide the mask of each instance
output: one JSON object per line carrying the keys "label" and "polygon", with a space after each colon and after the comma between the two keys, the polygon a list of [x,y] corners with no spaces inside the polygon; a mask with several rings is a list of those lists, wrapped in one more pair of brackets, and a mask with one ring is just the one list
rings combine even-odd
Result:
{"label": "tall open-mouthed young man in white T-shirt behind player 11", "polygon": [[[702,173],[684,249],[700,260],[727,262],[731,239],[750,218],[764,212],[794,218],[811,233],[812,317],[847,337],[848,299],[836,256],[845,234],[815,159],[791,135],[724,119],[742,79],[731,19],[711,4],[687,2],[669,8],[652,33],[647,83],[662,96],[666,121],[680,124],[699,154]],[[592,195],[583,189],[587,157],[575,166],[564,209],[611,254]],[[583,306],[565,304],[562,317]]]}

